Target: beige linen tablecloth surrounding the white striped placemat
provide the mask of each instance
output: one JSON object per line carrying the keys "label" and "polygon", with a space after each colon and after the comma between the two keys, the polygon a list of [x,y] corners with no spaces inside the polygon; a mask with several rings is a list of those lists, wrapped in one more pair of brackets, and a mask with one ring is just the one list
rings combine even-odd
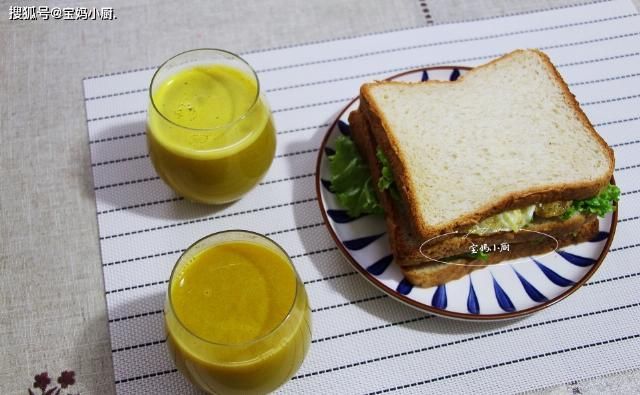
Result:
{"label": "beige linen tablecloth surrounding the white striped placemat", "polygon": [[[636,8],[640,0],[633,0]],[[58,4],[60,3],[60,4]],[[93,1],[42,2],[101,7]],[[73,392],[114,393],[82,77],[191,48],[234,52],[505,15],[566,0],[109,2],[113,21],[11,21],[0,12],[0,392],[74,370]],[[637,392],[625,372],[545,393]]]}

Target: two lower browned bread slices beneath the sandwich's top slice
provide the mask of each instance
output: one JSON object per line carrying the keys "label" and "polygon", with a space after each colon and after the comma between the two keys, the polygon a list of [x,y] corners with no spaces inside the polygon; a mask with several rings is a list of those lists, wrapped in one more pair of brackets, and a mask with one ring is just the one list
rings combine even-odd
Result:
{"label": "two lower browned bread slices beneath the sandwich's top slice", "polygon": [[[351,138],[369,167],[373,183],[377,184],[382,170],[376,157],[375,139],[360,110],[349,115],[349,124]],[[535,232],[502,232],[488,236],[449,237],[425,245],[424,240],[417,237],[411,229],[406,207],[399,207],[401,203],[393,201],[388,192],[379,188],[375,190],[385,213],[395,262],[409,282],[421,287],[444,284],[491,264],[544,254],[563,246],[581,243],[598,233],[598,219],[595,215],[577,214],[567,221],[544,221],[535,226],[537,232],[553,238]],[[508,251],[490,254],[486,258],[469,254],[473,245],[505,242],[509,245]]]}

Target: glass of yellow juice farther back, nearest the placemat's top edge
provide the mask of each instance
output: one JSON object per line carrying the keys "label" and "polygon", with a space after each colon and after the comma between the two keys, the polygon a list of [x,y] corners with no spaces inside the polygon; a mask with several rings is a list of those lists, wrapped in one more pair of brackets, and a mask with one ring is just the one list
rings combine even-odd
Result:
{"label": "glass of yellow juice farther back, nearest the placemat's top edge", "polygon": [[174,56],[149,88],[147,142],[160,177],[190,200],[239,199],[273,161],[276,133],[258,78],[237,55],[197,49]]}

